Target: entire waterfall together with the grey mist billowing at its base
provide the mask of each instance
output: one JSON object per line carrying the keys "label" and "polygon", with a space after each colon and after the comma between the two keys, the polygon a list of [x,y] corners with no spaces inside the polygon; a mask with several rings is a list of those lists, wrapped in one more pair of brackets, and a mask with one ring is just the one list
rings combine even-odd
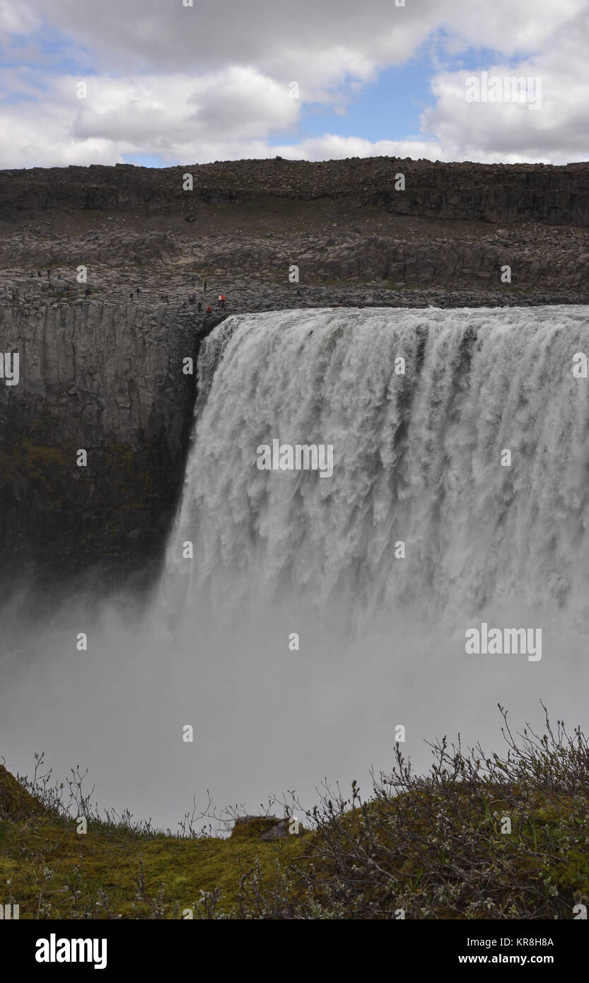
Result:
{"label": "entire waterfall together with the grey mist billowing at its base", "polygon": [[[249,812],[287,788],[313,806],[324,777],[368,793],[397,724],[417,770],[444,733],[502,750],[498,702],[516,727],[542,726],[542,699],[587,732],[579,352],[587,308],[228,318],[201,350],[156,597],[97,616],[70,599],[19,629],[7,764],[44,749],[62,778],[88,767],[102,804],[174,828],[206,789]],[[332,444],[332,476],[260,470],[272,439]],[[468,654],[483,621],[542,629],[542,659]]]}

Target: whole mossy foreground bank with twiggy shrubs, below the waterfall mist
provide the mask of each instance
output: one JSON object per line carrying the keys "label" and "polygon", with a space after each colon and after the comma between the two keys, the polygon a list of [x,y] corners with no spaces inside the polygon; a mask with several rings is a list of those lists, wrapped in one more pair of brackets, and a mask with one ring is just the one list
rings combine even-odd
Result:
{"label": "whole mossy foreground bank with twiggy shrubs, below the waterfall mist", "polygon": [[589,904],[587,738],[548,715],[514,736],[501,714],[502,756],[443,738],[414,776],[396,745],[369,799],[326,789],[271,841],[254,819],[162,835],[98,815],[79,772],[51,785],[42,756],[31,779],[0,766],[0,902],[21,918],[571,919]]}

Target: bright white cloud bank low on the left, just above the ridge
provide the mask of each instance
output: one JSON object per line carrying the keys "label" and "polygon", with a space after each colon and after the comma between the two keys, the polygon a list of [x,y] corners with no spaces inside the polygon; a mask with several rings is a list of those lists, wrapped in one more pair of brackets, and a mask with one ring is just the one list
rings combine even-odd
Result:
{"label": "bright white cloud bank low on the left, just above the ridge", "polygon": [[[129,153],[199,162],[218,159],[219,146],[243,156],[240,148],[252,141],[270,155],[265,139],[296,125],[300,112],[287,87],[254,69],[201,78],[89,78],[86,98],[77,96],[79,81],[60,78],[48,92],[37,87],[38,101],[1,108],[0,124],[10,140],[0,146],[0,166],[107,163]],[[35,90],[28,72],[13,76],[12,86]],[[206,146],[214,147],[208,155]]]}

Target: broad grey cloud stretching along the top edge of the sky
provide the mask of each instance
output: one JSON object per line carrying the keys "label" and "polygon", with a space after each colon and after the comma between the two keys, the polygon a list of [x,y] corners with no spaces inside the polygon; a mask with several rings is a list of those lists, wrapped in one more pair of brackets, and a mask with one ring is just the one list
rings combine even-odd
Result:
{"label": "broad grey cloud stretching along the top edge of the sky", "polygon": [[[96,68],[134,72],[207,71],[256,65],[282,79],[315,84],[325,66],[364,77],[372,67],[405,62],[433,31],[459,47],[495,47],[507,55],[546,48],[586,0],[29,0],[39,18],[69,32],[97,55]],[[318,58],[318,56],[320,56]],[[293,72],[295,74],[293,75]]]}

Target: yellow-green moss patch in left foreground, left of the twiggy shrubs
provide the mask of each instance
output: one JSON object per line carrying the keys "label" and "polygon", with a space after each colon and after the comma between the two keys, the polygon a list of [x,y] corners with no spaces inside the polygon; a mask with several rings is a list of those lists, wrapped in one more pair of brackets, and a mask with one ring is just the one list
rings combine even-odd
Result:
{"label": "yellow-green moss patch in left foreground, left of the twiggy shrubs", "polygon": [[276,861],[296,861],[301,842],[142,837],[91,823],[79,835],[74,822],[39,817],[0,840],[0,883],[12,881],[21,918],[72,917],[74,887],[78,910],[97,918],[108,917],[104,903],[124,918],[153,917],[154,903],[165,918],[187,908],[197,917],[201,893],[215,889],[219,909],[231,913],[242,876],[257,866],[270,876]]}

